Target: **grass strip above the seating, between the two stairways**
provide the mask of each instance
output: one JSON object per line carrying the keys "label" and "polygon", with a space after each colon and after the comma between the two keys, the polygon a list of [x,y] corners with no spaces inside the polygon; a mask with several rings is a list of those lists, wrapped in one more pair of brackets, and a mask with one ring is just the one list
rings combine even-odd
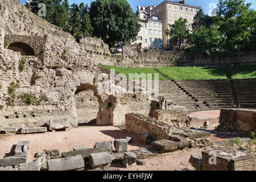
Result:
{"label": "grass strip above the seating, between the two stairways", "polygon": [[156,68],[173,80],[217,80],[226,79],[224,67],[171,67]]}

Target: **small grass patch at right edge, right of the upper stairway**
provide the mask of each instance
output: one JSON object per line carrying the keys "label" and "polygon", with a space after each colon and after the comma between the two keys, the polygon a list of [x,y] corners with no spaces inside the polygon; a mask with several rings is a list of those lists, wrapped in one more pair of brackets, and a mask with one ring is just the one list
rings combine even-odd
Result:
{"label": "small grass patch at right edge, right of the upper stairway", "polygon": [[233,79],[256,78],[256,65],[241,65],[230,67]]}

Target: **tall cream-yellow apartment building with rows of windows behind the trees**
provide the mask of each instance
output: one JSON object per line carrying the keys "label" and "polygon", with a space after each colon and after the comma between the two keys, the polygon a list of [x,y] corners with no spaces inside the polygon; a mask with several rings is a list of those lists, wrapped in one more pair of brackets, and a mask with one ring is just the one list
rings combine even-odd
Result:
{"label": "tall cream-yellow apartment building with rows of windows behind the trees", "polygon": [[194,16],[200,9],[199,6],[186,5],[184,0],[179,2],[164,1],[151,9],[152,16],[163,20],[163,49],[166,49],[168,44],[169,38],[164,32],[169,28],[169,24],[174,24],[175,20],[181,17],[187,19],[187,26],[191,28]]}

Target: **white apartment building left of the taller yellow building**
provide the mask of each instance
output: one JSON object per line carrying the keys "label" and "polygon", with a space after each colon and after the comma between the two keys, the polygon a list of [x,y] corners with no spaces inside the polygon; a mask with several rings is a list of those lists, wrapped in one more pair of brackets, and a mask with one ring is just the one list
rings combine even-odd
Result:
{"label": "white apartment building left of the taller yellow building", "polygon": [[137,6],[137,20],[141,24],[141,30],[134,43],[142,43],[142,48],[158,48],[163,49],[163,21],[156,16],[150,15],[152,6]]}

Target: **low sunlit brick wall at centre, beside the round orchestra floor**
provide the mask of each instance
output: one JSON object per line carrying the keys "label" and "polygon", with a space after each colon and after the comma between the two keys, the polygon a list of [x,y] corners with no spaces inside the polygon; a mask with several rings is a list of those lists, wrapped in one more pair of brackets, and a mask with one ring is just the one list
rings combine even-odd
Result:
{"label": "low sunlit brick wall at centre, beside the round orchestra floor", "polygon": [[171,110],[153,110],[153,117],[171,126],[187,127],[189,125],[188,111],[185,107]]}

